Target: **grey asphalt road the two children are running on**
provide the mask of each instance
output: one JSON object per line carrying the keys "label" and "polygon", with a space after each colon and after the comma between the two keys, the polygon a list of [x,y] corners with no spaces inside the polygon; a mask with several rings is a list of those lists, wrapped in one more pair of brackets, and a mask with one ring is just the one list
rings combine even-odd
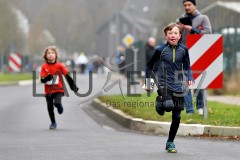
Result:
{"label": "grey asphalt road the two children are running on", "polygon": [[[239,141],[177,137],[177,154],[164,150],[166,135],[146,135],[129,131],[90,102],[79,103],[103,91],[106,76],[93,77],[88,97],[63,98],[64,113],[58,115],[57,130],[49,130],[45,98],[33,97],[32,86],[0,86],[0,160],[238,160]],[[88,77],[78,76],[83,93]],[[126,92],[126,87],[124,87]],[[43,86],[37,85],[37,93]],[[103,94],[120,93],[118,87]]]}

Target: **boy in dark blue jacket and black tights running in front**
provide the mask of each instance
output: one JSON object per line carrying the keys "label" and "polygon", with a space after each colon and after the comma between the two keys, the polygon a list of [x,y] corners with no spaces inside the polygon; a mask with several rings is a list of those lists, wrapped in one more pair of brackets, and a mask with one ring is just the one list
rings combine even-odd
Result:
{"label": "boy in dark blue jacket and black tights running in front", "polygon": [[[180,124],[181,111],[184,109],[183,96],[186,90],[183,72],[187,73],[189,85],[194,84],[194,79],[190,68],[188,49],[179,43],[182,28],[176,23],[170,23],[165,27],[164,33],[167,43],[158,47],[147,63],[146,78],[150,78],[155,61],[159,61],[158,88],[162,88],[165,91],[165,97],[172,100],[174,104],[172,123],[165,149],[170,153],[176,153],[174,139]],[[161,115],[163,114],[164,111]]]}

